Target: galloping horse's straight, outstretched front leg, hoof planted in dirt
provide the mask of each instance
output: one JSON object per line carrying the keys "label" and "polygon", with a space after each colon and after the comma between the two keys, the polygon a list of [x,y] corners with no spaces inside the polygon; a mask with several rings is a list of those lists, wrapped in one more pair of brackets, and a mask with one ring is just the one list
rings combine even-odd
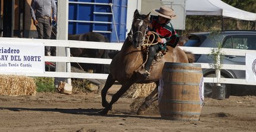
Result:
{"label": "galloping horse's straight, outstretched front leg, hoof planted in dirt", "polygon": [[124,92],[127,91],[127,89],[130,88],[130,86],[132,86],[133,83],[131,82],[127,82],[124,85],[121,86],[121,88],[112,96],[112,99],[110,101],[110,104],[107,105],[107,107],[104,108],[104,110],[102,110],[101,112],[99,112],[101,115],[106,115],[108,114],[108,111],[111,110],[112,105],[117,102],[117,100],[121,97],[121,95],[124,94]]}

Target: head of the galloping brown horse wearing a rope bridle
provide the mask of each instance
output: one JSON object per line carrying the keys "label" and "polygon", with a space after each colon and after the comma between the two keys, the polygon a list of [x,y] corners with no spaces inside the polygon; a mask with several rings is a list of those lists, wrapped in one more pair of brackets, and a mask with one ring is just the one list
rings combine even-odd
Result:
{"label": "head of the galloping brown horse wearing a rope bridle", "polygon": [[[149,12],[150,14],[150,12]],[[140,14],[136,9],[133,15],[132,29],[130,30],[129,36],[132,40],[133,47],[139,48],[145,40],[146,30],[148,26],[151,26],[149,20],[149,14]]]}

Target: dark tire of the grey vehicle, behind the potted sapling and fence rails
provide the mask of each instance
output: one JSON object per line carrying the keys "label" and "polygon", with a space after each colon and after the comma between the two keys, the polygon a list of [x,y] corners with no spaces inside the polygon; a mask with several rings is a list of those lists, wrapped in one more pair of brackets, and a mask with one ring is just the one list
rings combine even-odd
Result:
{"label": "dark tire of the grey vehicle, behind the potted sapling and fence rails", "polygon": [[[207,78],[215,78],[215,74],[205,75],[204,77]],[[225,78],[221,76],[221,78]],[[216,83],[204,83],[204,96],[208,98],[213,98],[213,88],[216,86]],[[224,98],[229,98],[230,96],[230,84],[221,83],[221,87],[225,88],[225,96]]]}

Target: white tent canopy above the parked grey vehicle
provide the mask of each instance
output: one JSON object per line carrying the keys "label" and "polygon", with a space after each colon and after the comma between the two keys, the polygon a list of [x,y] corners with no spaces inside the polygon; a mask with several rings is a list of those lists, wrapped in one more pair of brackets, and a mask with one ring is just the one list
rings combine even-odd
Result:
{"label": "white tent canopy above the parked grey vehicle", "polygon": [[239,20],[256,21],[256,14],[232,7],[220,0],[186,0],[186,15],[222,15]]}

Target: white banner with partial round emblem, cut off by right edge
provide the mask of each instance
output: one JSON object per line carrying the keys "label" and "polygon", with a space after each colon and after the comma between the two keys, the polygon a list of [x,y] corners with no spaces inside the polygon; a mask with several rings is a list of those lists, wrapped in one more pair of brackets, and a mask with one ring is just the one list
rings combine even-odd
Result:
{"label": "white banner with partial round emblem, cut off by right edge", "polygon": [[256,82],[256,54],[246,54],[246,82]]}

